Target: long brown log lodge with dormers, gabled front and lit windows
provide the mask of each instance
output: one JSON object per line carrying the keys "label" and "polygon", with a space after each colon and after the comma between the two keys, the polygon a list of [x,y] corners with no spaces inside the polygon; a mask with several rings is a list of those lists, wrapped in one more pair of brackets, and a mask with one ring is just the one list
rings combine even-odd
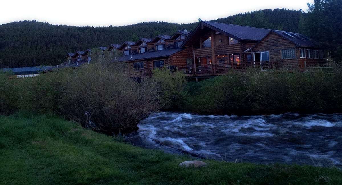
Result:
{"label": "long brown log lodge with dormers, gabled front and lit windows", "polygon": [[[177,31],[99,48],[120,52],[122,56],[114,57],[113,62],[127,63],[135,77],[150,76],[160,67],[205,77],[248,68],[303,72],[308,66],[326,63],[323,50],[301,33],[207,21],[192,32]],[[90,63],[91,54],[91,49],[67,53],[66,61],[53,68]]]}

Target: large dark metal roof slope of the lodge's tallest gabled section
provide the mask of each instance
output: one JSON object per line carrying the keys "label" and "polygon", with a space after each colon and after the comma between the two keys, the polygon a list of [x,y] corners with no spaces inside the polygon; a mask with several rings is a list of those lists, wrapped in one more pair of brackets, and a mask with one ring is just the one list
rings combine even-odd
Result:
{"label": "large dark metal roof slope of the lodge's tallest gabled section", "polygon": [[254,28],[254,27],[249,27],[249,26],[239,26],[239,25],[232,25],[232,24],[209,22],[209,21],[203,21],[202,23],[216,31],[219,31],[221,33],[226,33],[229,36],[237,40],[259,41],[269,31],[271,31],[270,29],[264,29],[264,28]]}

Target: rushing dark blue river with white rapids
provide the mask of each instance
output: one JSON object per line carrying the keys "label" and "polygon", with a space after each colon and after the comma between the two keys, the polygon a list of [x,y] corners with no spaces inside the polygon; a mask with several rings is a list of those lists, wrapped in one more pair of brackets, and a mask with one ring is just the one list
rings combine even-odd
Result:
{"label": "rushing dark blue river with white rapids", "polygon": [[168,153],[230,162],[342,167],[342,114],[151,114],[126,140]]}

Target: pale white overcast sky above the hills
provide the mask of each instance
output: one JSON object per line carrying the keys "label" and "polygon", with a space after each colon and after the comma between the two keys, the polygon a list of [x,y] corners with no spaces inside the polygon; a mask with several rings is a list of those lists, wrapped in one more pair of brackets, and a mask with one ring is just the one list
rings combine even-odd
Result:
{"label": "pale white overcast sky above the hills", "polygon": [[148,21],[197,22],[260,9],[307,12],[313,0],[2,0],[0,24],[38,20],[71,26],[123,26]]}

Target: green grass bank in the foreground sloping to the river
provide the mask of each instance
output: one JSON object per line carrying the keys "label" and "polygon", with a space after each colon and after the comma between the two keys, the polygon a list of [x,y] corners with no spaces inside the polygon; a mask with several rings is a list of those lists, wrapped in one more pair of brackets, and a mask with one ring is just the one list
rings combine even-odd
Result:
{"label": "green grass bank in the foreground sloping to the river", "polygon": [[120,142],[49,115],[0,116],[0,184],[342,184],[342,171],[206,160]]}

